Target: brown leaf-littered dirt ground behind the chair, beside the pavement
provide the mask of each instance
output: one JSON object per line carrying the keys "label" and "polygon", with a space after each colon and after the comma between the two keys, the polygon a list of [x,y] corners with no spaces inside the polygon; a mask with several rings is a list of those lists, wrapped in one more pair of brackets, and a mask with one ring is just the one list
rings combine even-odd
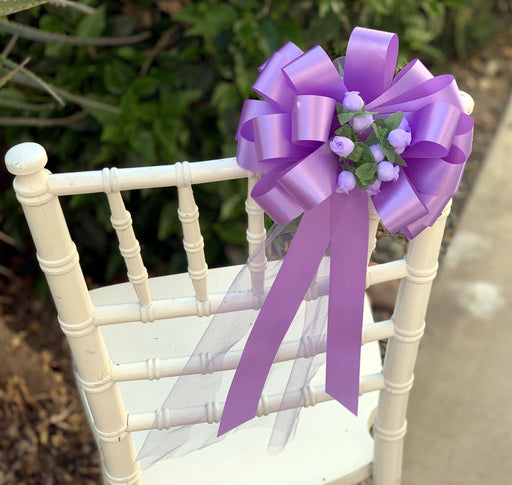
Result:
{"label": "brown leaf-littered dirt ground behind the chair, beside the pavement", "polygon": [[[512,32],[500,34],[464,66],[454,65],[459,87],[475,99],[475,142],[454,200],[445,246],[457,228],[512,86]],[[69,350],[50,302],[41,302],[27,265],[0,233],[0,484],[100,483],[97,451],[75,389]],[[380,259],[393,244],[381,238]],[[391,249],[390,249],[391,248]],[[379,256],[379,255],[377,255]],[[387,293],[386,293],[387,291]],[[381,310],[394,298],[383,289]]]}

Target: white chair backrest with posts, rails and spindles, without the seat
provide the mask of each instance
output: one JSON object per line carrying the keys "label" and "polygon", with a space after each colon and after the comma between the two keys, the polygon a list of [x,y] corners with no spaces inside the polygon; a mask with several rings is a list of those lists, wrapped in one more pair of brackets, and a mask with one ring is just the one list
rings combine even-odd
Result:
{"label": "white chair backrest with posts, rails and spindles, without the seat", "polygon": [[[51,174],[45,169],[47,156],[35,143],[24,143],[6,155],[6,164],[16,175],[14,187],[23,206],[37,247],[37,258],[44,271],[57,307],[60,326],[68,338],[77,370],[78,384],[90,410],[93,430],[102,449],[106,476],[110,483],[138,483],[139,468],[131,437],[132,431],[167,427],[176,424],[176,414],[166,416],[149,410],[127,414],[118,382],[153,379],[179,375],[183,359],[132,362],[113,366],[103,341],[100,327],[113,323],[152,322],[184,315],[211,315],[222,301],[222,294],[209,294],[208,266],[203,250],[199,212],[193,186],[206,182],[247,178],[249,194],[258,180],[256,174],[245,171],[234,158],[174,165],[104,169],[101,171]],[[154,187],[175,186],[178,190],[178,217],[184,235],[188,274],[195,295],[153,300],[148,285],[148,273],[140,254],[140,246],[125,208],[121,192]],[[59,197],[72,194],[105,193],[112,213],[112,225],[119,239],[119,248],[128,279],[138,297],[138,304],[103,305],[94,307],[79,264],[78,253],[70,236],[59,203]],[[249,252],[265,240],[263,212],[248,196],[247,240]],[[374,425],[374,474],[400,476],[405,412],[413,382],[413,368],[424,329],[432,280],[437,271],[437,258],[449,208],[433,227],[412,240],[405,259],[369,266],[367,287],[400,279],[400,290],[393,316],[386,321],[365,325],[363,344],[389,339],[383,371],[361,376],[360,393],[381,390],[378,414]],[[378,226],[378,216],[370,203],[370,257]],[[239,308],[251,308],[256,297],[264,293],[265,259],[252,261],[253,288],[249,295],[240,295]],[[283,346],[279,358],[293,359],[297,342]],[[325,352],[323,348],[316,349]],[[225,359],[227,368],[235,368],[240,355],[236,352]],[[197,371],[201,372],[201,356],[197,356]],[[329,399],[323,390],[314,393],[313,401]],[[265,413],[279,408],[280,398],[266,402]],[[218,419],[218,409],[206,406],[201,410],[203,421]],[[213,414],[213,416],[212,416]],[[172,418],[172,419],[171,419]],[[198,416],[183,416],[184,421],[197,421]],[[119,478],[122,477],[122,478]],[[377,478],[378,480],[378,478]],[[377,481],[376,483],[384,483]],[[386,482],[388,483],[388,482]],[[392,483],[392,482],[389,482]],[[393,482],[394,483],[394,482]]]}

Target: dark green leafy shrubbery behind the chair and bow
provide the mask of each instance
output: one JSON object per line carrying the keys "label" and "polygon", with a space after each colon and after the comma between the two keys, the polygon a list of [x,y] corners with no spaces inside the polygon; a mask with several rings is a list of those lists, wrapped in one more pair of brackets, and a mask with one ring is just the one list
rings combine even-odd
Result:
{"label": "dark green leafy shrubbery behind the chair and bow", "polygon": [[[500,27],[500,9],[510,8],[507,2],[487,0],[84,3],[94,12],[44,4],[0,17],[4,74],[11,63],[30,57],[25,67],[59,88],[54,94],[65,102],[61,106],[18,71],[0,89],[0,147],[5,152],[21,141],[37,141],[47,149],[53,171],[233,156],[240,108],[253,96],[257,66],[286,41],[304,50],[321,44],[334,58],[344,53],[354,26],[383,29],[399,34],[402,65],[418,56],[441,72],[448,61],[465,60],[481,48]],[[42,32],[60,36],[48,39]],[[0,184],[2,231],[24,251],[29,238],[7,190],[7,173],[2,172]],[[221,236],[242,243],[243,192],[241,182],[198,191],[210,263],[226,257],[216,243]],[[104,198],[76,196],[65,204],[75,209],[71,223],[86,262],[88,247],[106,254],[116,245],[105,235],[111,228]],[[158,249],[145,248],[150,263],[161,265],[180,246],[175,193],[142,191],[131,194],[128,205],[138,221],[136,230],[161,242]],[[183,252],[175,254],[170,264],[181,270]],[[90,263],[95,279],[111,278],[121,267],[119,259]]]}

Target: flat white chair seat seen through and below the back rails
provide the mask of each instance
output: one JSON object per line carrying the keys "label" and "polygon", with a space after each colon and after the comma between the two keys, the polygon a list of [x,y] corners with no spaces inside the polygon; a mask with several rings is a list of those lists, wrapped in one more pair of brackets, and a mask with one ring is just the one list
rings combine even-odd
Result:
{"label": "flat white chair seat seen through and below the back rails", "polygon": [[[239,269],[240,267],[235,266],[210,270],[209,291],[226,291]],[[187,274],[150,278],[149,286],[153,300],[194,295]],[[138,301],[129,283],[93,290],[90,294],[97,306]],[[299,311],[298,315],[301,313]],[[190,355],[210,318],[184,317],[147,324],[132,322],[108,325],[101,329],[112,362],[116,365],[153,357]],[[295,321],[297,320],[299,318]],[[372,321],[371,309],[366,302],[365,323]],[[292,324],[286,339],[300,338],[298,331]],[[243,342],[239,348],[242,345]],[[362,353],[364,367],[361,368],[361,375],[380,372],[382,365],[378,342],[366,344]],[[321,368],[312,384],[323,383],[323,371]],[[167,396],[173,379],[119,383],[128,413],[158,409]],[[227,380],[229,383],[230,379]],[[364,480],[370,476],[370,465],[373,461],[374,443],[369,426],[372,424],[377,402],[378,392],[361,396],[358,417],[335,401],[303,409],[295,438],[278,455],[267,451],[271,430],[269,426],[258,426],[264,421],[267,424],[272,423],[273,418],[256,418],[248,426],[232,432],[212,446],[185,457],[161,461],[144,470],[142,483],[313,485]],[[137,452],[146,434],[147,431],[133,433]],[[339,477],[344,478],[337,481]]]}

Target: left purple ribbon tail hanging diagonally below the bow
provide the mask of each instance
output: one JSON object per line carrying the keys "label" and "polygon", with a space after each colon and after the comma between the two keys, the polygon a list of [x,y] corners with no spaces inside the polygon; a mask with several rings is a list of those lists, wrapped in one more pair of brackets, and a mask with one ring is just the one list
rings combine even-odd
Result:
{"label": "left purple ribbon tail hanging diagonally below the bow", "polygon": [[256,415],[275,355],[329,245],[330,209],[331,201],[327,199],[302,217],[245,345],[229,389],[219,436]]}

